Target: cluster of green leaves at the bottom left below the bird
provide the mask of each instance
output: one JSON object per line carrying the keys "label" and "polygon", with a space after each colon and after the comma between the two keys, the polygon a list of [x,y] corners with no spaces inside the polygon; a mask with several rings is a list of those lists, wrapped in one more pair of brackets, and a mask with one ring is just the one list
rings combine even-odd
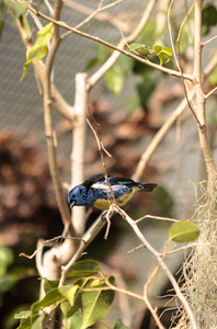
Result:
{"label": "cluster of green leaves at the bottom left below the bird", "polygon": [[34,303],[31,310],[15,315],[21,319],[19,329],[43,328],[47,315],[57,307],[65,328],[85,329],[106,316],[114,299],[114,291],[106,284],[107,281],[113,283],[114,277],[105,279],[100,265],[92,260],[71,265],[64,286],[58,286],[59,281],[42,280],[45,296]]}

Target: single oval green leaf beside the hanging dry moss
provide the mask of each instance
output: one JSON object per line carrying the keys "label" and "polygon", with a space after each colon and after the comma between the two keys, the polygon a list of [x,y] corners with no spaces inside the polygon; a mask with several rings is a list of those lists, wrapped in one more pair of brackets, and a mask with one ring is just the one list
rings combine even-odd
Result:
{"label": "single oval green leaf beside the hanging dry moss", "polygon": [[175,242],[185,243],[196,240],[199,236],[199,228],[196,224],[187,220],[180,220],[171,225],[169,238]]}

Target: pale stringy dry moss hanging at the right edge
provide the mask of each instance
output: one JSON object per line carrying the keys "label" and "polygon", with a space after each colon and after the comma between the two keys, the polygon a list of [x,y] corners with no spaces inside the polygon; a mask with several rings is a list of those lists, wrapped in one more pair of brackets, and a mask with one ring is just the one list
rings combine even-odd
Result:
{"label": "pale stringy dry moss hanging at the right edge", "polygon": [[[193,216],[201,228],[198,242],[183,265],[183,293],[192,307],[198,329],[217,328],[217,181],[213,193],[199,183],[201,196]],[[185,328],[191,325],[185,322]]]}

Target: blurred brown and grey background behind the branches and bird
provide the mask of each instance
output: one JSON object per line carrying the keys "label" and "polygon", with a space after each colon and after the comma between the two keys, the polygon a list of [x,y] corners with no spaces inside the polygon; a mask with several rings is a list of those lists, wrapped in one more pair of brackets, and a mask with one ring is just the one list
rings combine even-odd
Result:
{"label": "blurred brown and grey background behind the branches and bird", "polygon": [[[110,2],[104,1],[103,4]],[[36,1],[36,4],[41,11],[47,12],[44,1]],[[93,0],[67,0],[61,21],[75,26],[96,9],[98,4]],[[122,1],[107,10],[107,15],[96,15],[81,30],[117,44],[122,37],[121,31],[124,35],[129,34],[145,8],[146,1]],[[183,10],[179,4],[174,7],[181,21]],[[159,33],[158,24],[161,20],[156,19],[159,12],[156,10],[152,13],[138,42],[152,47],[160,41],[163,46],[170,47],[167,21],[162,12],[160,14],[164,25],[161,27],[162,33]],[[179,20],[175,21],[173,15],[172,26],[174,34],[178,33]],[[31,27],[35,35],[37,29],[33,20]],[[185,44],[186,41],[189,43],[182,60],[186,72],[189,70],[191,73],[193,50],[191,39],[184,39]],[[210,59],[214,47],[216,42],[205,49],[204,67]],[[54,80],[69,104],[72,105],[75,101],[76,73],[87,71],[91,76],[111,54],[104,46],[75,34],[64,39],[55,60]],[[19,81],[24,63],[25,47],[12,19],[7,15],[0,52],[0,327],[5,329],[18,325],[13,319],[14,313],[28,308],[38,298],[39,283],[34,260],[19,257],[20,252],[31,254],[38,238],[49,239],[62,231],[47,163],[43,95],[32,65],[23,81]],[[165,66],[172,68],[173,63]],[[210,81],[206,82],[205,90],[210,88]],[[88,102],[90,112],[101,125],[104,147],[112,155],[112,158],[105,159],[108,174],[126,178],[133,175],[141,155],[183,97],[182,83],[178,78],[124,56],[119,57],[108,75],[92,88]],[[216,97],[207,102],[207,118],[210,145],[217,157]],[[71,126],[55,109],[53,121],[57,134],[61,180],[70,183]],[[88,127],[85,178],[102,171],[98,145]],[[205,178],[196,123],[187,109],[167,133],[144,172],[141,182],[158,183],[158,188],[151,194],[137,193],[125,209],[135,219],[146,214],[191,218],[194,212],[195,185]],[[95,211],[91,213],[87,227],[96,215]],[[146,238],[158,250],[168,240],[169,226],[165,222],[153,219],[146,219],[140,224]],[[102,261],[106,265],[105,271],[113,271],[118,277],[121,275],[127,288],[142,293],[144,283],[155,262],[148,251],[141,248],[128,252],[138,245],[139,241],[126,223],[115,217],[108,239],[104,240],[103,231],[89,247],[88,257]],[[181,253],[168,258],[173,273],[176,273],[182,261]],[[167,277],[159,272],[151,286],[150,296],[156,298],[165,294],[169,288]],[[155,300],[155,305],[162,307],[159,313],[168,302],[169,298],[164,302],[160,298]],[[116,298],[115,303],[119,305],[122,302]],[[173,300],[169,307],[175,307]],[[121,317],[118,309],[113,307],[111,318]],[[137,300],[128,302],[124,317],[126,322],[129,317],[133,319],[134,328],[156,328],[145,313],[144,305]],[[167,318],[171,317],[171,313],[163,314],[163,317],[167,327]]]}

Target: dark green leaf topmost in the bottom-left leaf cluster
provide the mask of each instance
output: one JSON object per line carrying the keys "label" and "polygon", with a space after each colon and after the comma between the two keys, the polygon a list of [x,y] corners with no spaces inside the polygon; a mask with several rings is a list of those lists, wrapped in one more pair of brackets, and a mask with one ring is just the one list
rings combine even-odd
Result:
{"label": "dark green leaf topmost in the bottom-left leaf cluster", "polygon": [[82,277],[87,275],[94,275],[100,272],[100,265],[93,260],[84,260],[76,262],[67,271],[67,277]]}

